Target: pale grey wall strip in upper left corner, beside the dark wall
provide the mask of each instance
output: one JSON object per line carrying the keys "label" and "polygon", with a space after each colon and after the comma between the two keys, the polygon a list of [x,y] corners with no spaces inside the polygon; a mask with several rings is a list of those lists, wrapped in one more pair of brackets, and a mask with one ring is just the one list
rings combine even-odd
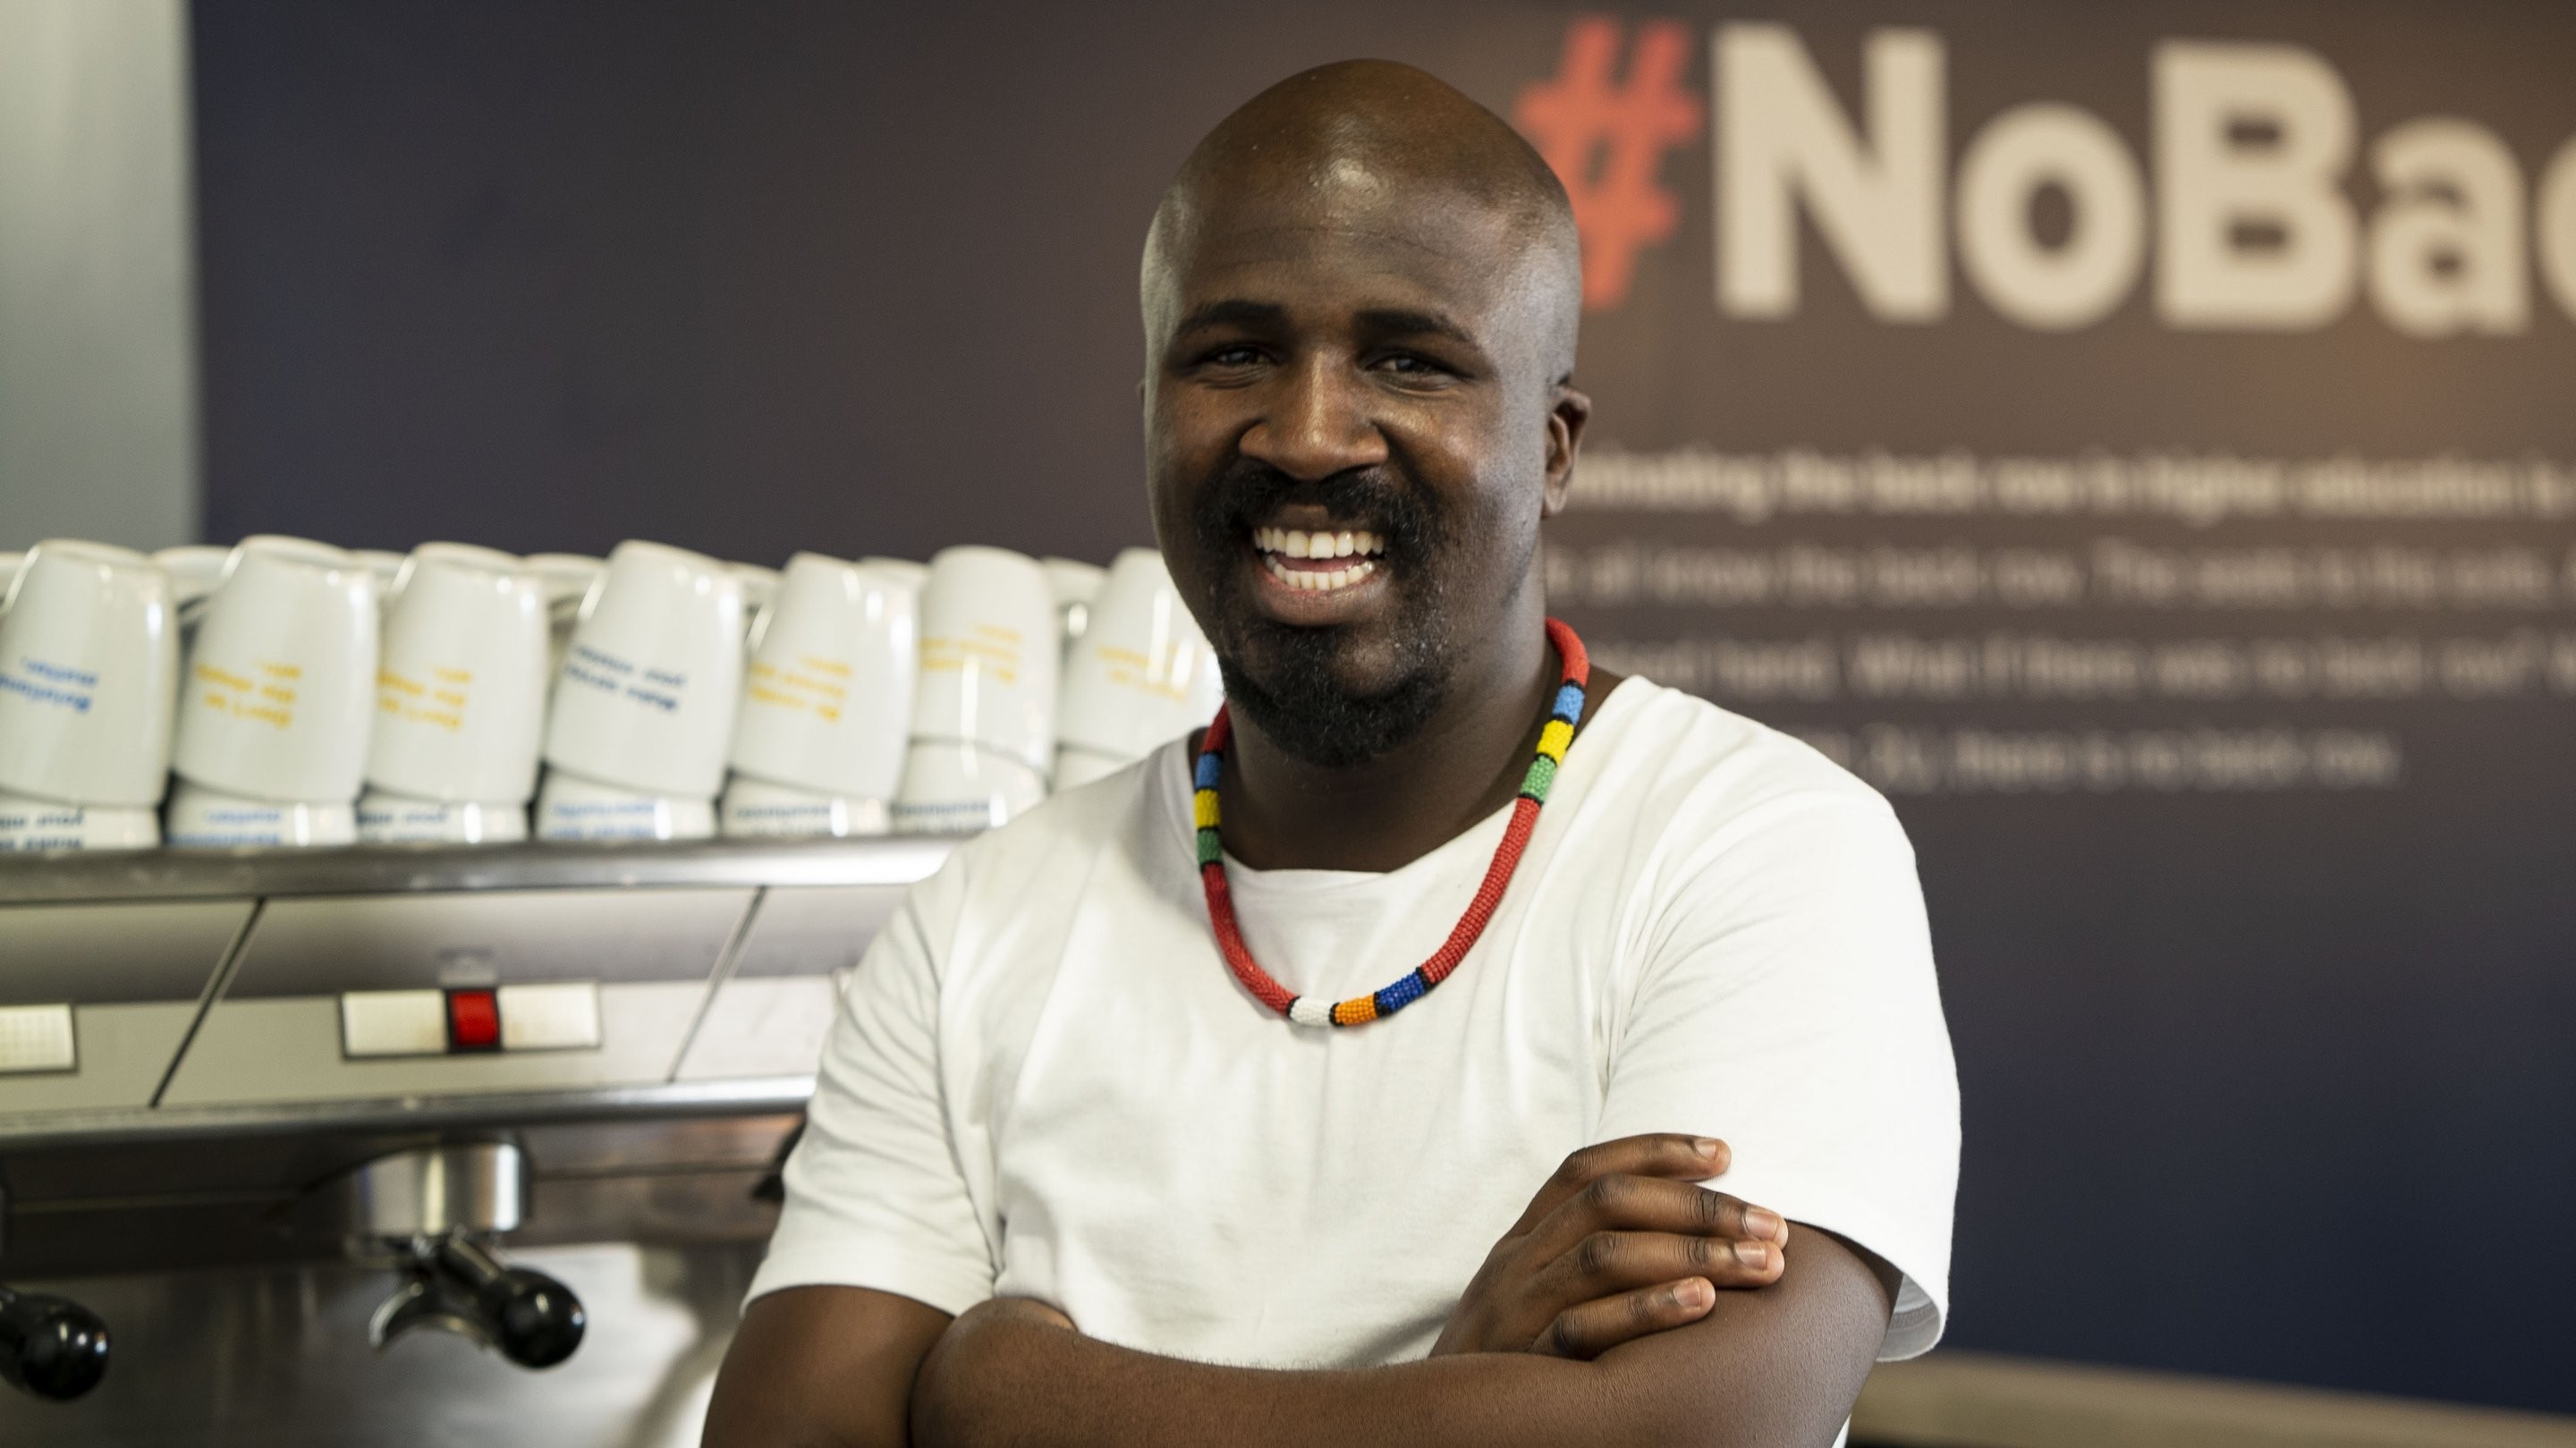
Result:
{"label": "pale grey wall strip in upper left corner, beside the dark wall", "polygon": [[180,0],[0,0],[0,549],[196,536]]}

